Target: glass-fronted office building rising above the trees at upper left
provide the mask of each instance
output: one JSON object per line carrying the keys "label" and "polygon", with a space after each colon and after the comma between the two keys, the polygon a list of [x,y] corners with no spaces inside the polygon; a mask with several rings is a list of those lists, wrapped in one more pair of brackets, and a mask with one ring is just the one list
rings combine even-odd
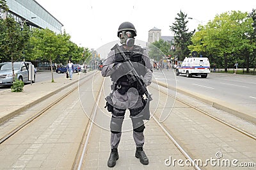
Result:
{"label": "glass-fronted office building rising above the trees at upper left", "polygon": [[[63,24],[51,13],[47,12],[35,0],[6,0],[9,13],[19,23],[24,23],[29,27],[48,28],[57,34],[61,33]],[[3,13],[1,10],[0,13]]]}

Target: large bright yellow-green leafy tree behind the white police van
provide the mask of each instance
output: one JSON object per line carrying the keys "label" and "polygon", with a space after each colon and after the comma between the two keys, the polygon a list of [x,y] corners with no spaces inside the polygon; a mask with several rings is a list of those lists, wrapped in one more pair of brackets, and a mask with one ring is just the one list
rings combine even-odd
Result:
{"label": "large bright yellow-green leafy tree behind the white police van", "polygon": [[[255,43],[250,40],[252,31],[252,18],[247,13],[221,13],[200,27],[191,38],[193,45],[189,45],[189,50],[216,56],[214,60],[222,61],[219,65],[223,64],[227,72],[228,64],[234,66],[236,61],[240,64],[249,61],[255,49]],[[219,56],[222,59],[218,59]],[[246,67],[249,68],[249,63]]]}

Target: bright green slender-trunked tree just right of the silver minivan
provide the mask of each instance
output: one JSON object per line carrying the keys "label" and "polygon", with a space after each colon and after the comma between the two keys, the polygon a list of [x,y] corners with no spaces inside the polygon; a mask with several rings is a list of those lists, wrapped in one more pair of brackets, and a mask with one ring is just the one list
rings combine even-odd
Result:
{"label": "bright green slender-trunked tree just right of the silver minivan", "polygon": [[47,59],[51,64],[52,82],[54,82],[52,62],[57,56],[66,54],[68,51],[67,41],[70,37],[56,35],[49,29],[35,29],[31,37],[34,46],[34,54],[39,58]]}

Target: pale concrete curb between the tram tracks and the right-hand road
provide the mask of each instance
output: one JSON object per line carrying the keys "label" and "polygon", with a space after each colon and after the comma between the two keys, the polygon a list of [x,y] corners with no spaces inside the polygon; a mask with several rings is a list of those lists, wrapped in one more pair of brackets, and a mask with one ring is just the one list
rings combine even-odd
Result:
{"label": "pale concrete curb between the tram tracks and the right-hand road", "polygon": [[247,114],[248,112],[252,112],[252,111],[246,109],[245,107],[239,107],[237,105],[230,104],[228,102],[221,101],[216,98],[206,97],[205,95],[201,95],[198,93],[191,93],[186,89],[173,88],[172,86],[168,86],[164,82],[160,82],[160,81],[152,81],[152,82],[155,82],[155,83],[157,83],[161,86],[164,86],[166,88],[173,89],[174,91],[177,91],[177,92],[187,95],[189,97],[196,98],[197,100],[200,100],[201,102],[204,102],[205,104],[212,105],[212,107],[214,107],[216,109],[220,109],[222,111],[233,114],[234,116],[237,116],[243,120],[246,120],[253,124],[256,124],[256,118]]}

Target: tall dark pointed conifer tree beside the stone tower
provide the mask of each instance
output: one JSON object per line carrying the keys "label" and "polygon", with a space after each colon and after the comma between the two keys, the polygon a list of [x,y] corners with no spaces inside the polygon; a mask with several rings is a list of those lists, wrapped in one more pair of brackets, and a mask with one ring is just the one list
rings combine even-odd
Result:
{"label": "tall dark pointed conifer tree beside the stone tower", "polygon": [[187,14],[180,11],[177,13],[178,17],[175,17],[175,22],[170,26],[171,31],[174,33],[174,45],[175,45],[175,55],[177,55],[179,60],[184,59],[189,56],[188,45],[191,45],[191,36],[195,33],[194,31],[189,32],[186,24],[188,24]]}

